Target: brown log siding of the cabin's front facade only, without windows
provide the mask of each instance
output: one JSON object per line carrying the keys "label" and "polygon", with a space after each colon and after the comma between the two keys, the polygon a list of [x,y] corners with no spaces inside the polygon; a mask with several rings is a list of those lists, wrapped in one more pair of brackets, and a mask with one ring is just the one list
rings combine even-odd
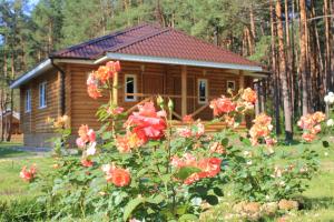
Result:
{"label": "brown log siding of the cabin's front facade only, without windows", "polygon": [[[88,97],[86,88],[86,79],[88,73],[97,65],[71,64],[66,69],[66,104],[67,114],[71,117],[71,128],[73,132],[81,124],[88,124],[94,129],[100,127],[97,122],[96,111],[98,107],[106,103],[108,95],[94,100]],[[139,63],[139,62],[121,62],[121,72],[118,78],[118,104],[125,109],[130,109],[145,98],[137,97],[137,101],[125,101],[125,75],[134,74],[137,78],[137,93],[145,94],[181,94],[180,89],[180,67],[165,65],[156,63]],[[193,113],[204,104],[198,103],[198,79],[207,79],[209,100],[226,94],[227,81],[233,80],[236,83],[236,91],[239,88],[239,75],[222,69],[203,69],[196,67],[187,67],[187,95],[193,97],[187,99],[187,112]],[[252,78],[245,78],[249,82]],[[70,98],[70,99],[69,99]],[[176,112],[180,113],[180,98],[175,98]],[[209,108],[202,111],[196,118],[210,120],[213,112]]]}

